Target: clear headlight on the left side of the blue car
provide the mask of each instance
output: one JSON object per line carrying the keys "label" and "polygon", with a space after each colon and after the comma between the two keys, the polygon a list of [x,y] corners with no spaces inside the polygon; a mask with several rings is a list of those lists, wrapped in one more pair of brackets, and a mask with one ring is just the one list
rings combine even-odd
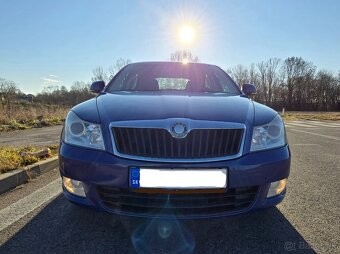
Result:
{"label": "clear headlight on the left side of the blue car", "polygon": [[72,111],[67,114],[63,137],[68,144],[105,149],[100,125],[85,122]]}

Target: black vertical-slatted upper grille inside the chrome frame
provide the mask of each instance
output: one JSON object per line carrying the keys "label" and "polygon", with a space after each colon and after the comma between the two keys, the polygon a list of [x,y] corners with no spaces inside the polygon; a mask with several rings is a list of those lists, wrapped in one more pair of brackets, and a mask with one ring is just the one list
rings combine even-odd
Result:
{"label": "black vertical-slatted upper grille inside the chrome frame", "polygon": [[218,158],[238,154],[243,129],[194,129],[174,138],[166,129],[113,127],[120,154],[164,159]]}

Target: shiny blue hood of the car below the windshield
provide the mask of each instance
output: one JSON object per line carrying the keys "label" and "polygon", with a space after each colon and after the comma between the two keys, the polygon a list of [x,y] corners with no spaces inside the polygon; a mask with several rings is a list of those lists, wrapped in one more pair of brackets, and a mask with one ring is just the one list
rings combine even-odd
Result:
{"label": "shiny blue hood of the car below the windshield", "polygon": [[242,96],[174,95],[147,92],[104,93],[97,97],[103,124],[115,121],[190,118],[252,123],[254,105]]}

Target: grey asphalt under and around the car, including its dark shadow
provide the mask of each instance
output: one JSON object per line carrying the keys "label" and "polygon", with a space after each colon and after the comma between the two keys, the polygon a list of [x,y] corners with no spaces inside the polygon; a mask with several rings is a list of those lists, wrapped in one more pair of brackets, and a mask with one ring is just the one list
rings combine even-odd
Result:
{"label": "grey asphalt under and around the car, including its dark shadow", "polygon": [[250,214],[188,221],[75,206],[56,170],[0,196],[0,253],[340,253],[340,123],[287,122],[286,199]]}

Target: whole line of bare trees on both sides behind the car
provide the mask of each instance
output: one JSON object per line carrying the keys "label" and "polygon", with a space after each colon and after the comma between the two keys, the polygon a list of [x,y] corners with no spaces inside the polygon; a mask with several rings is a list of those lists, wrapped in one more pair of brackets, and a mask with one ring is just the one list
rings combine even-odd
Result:
{"label": "whole line of bare trees on both sides behind the car", "polygon": [[[170,61],[199,62],[197,56],[188,51],[175,51]],[[76,81],[69,89],[66,86],[47,86],[33,96],[36,103],[72,107],[95,94],[90,91],[93,81],[108,82],[129,59],[118,59],[108,70],[103,67],[93,69],[90,82]],[[226,72],[238,83],[255,84],[257,94],[254,100],[276,110],[285,108],[294,111],[339,111],[340,110],[340,71],[337,74],[317,67],[301,57],[285,60],[270,58],[267,61],[249,66],[237,65]],[[1,108],[10,109],[15,98],[24,98],[18,85],[13,81],[0,78]]]}

